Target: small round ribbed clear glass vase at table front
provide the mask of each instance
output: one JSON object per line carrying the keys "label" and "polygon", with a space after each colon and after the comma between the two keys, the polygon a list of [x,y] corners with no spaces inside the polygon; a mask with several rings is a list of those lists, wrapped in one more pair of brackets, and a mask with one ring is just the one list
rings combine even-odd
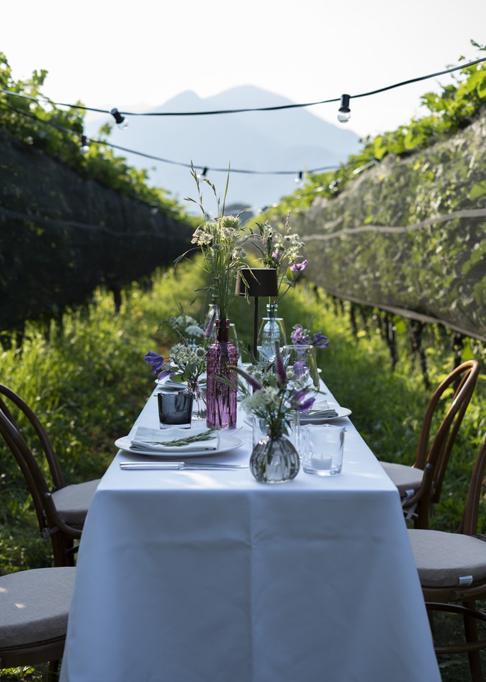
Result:
{"label": "small round ribbed clear glass vase at table front", "polygon": [[285,483],[300,469],[300,459],[284,435],[267,435],[257,442],[250,457],[250,470],[259,483]]}

